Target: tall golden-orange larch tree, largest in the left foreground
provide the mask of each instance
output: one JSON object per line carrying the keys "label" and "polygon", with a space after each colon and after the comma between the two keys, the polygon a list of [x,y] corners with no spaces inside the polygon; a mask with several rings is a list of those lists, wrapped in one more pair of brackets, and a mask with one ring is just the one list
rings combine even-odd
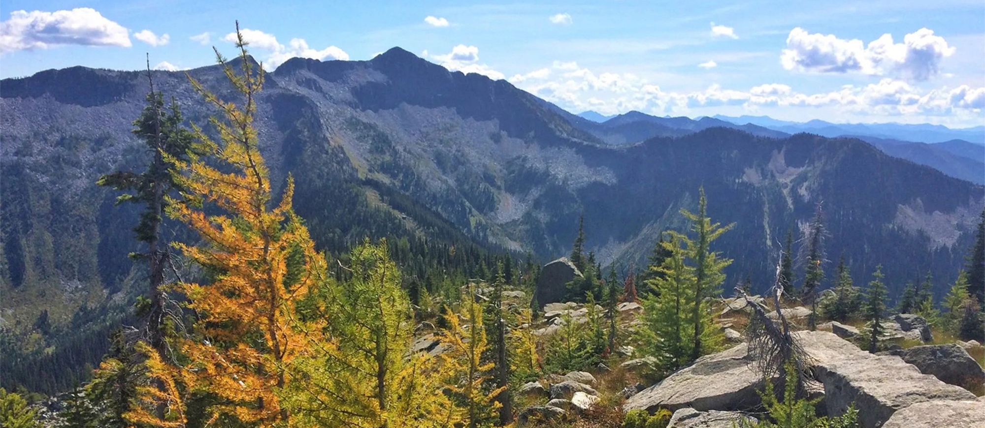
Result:
{"label": "tall golden-orange larch tree, largest in the left foreground", "polygon": [[188,361],[182,373],[194,374],[182,382],[216,397],[207,409],[211,417],[273,426],[290,420],[278,392],[291,380],[292,362],[310,351],[309,340],[318,331],[299,324],[296,304],[325,280],[327,265],[292,210],[292,178],[280,203],[270,207],[269,171],[253,127],[264,73],[248,56],[238,24],[236,36],[239,73],[218,52],[217,59],[240,102],[220,99],[190,79],[195,91],[225,115],[211,119],[219,142],[194,127],[198,144],[216,161],[165,156],[183,171],[177,182],[186,198],[186,203],[171,204],[168,214],[203,240],[199,246],[175,247],[214,274],[211,283],[174,285],[197,316],[193,335],[180,341]]}

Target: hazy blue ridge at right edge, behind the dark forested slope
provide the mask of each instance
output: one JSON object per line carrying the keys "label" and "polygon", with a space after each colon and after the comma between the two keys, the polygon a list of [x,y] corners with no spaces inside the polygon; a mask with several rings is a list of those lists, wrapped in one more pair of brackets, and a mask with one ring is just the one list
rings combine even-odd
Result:
{"label": "hazy blue ridge at right edge, behind the dark forested slope", "polygon": [[[983,161],[985,160],[985,156],[980,157],[979,160],[974,160],[969,157],[952,153],[945,147],[941,146],[943,143],[913,143],[866,136],[846,137],[858,138],[859,140],[865,141],[879,148],[879,150],[886,154],[933,167],[952,177],[967,180],[976,184],[985,184],[985,161]],[[971,148],[963,148],[968,152],[970,152],[970,149],[979,148],[983,151],[983,154],[985,154],[985,147],[983,146],[973,145],[964,141],[961,141],[960,143],[971,146]],[[959,143],[952,143],[950,146],[953,148],[958,148],[958,150],[962,148],[962,145]]]}

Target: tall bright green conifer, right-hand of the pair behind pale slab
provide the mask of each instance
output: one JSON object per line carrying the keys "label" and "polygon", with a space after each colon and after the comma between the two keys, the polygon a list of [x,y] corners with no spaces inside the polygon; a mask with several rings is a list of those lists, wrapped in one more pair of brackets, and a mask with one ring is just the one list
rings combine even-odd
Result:
{"label": "tall bright green conifer, right-hand of the pair behind pale slab", "polygon": [[690,230],[697,235],[696,241],[687,240],[688,257],[694,262],[692,285],[694,290],[691,292],[694,303],[690,307],[694,342],[690,354],[692,361],[712,348],[711,343],[702,343],[706,337],[717,331],[717,329],[705,329],[708,324],[705,320],[710,317],[708,299],[721,292],[718,286],[725,280],[722,270],[732,264],[730,259],[719,259],[718,253],[711,251],[711,243],[734,225],[722,227],[719,223],[712,223],[711,218],[706,214],[707,200],[704,197],[703,187],[700,188],[699,193],[697,214],[683,212],[691,221]]}

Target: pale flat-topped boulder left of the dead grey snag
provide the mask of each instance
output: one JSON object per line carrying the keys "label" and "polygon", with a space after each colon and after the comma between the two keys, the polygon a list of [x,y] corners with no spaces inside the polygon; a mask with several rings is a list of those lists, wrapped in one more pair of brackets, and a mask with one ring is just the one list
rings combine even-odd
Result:
{"label": "pale flat-topped boulder left of the dead grey snag", "polygon": [[747,355],[746,344],[705,355],[629,397],[623,408],[626,411],[640,408],[650,413],[660,408],[672,411],[685,407],[697,411],[753,408],[760,403],[756,391],[761,387],[761,378],[750,368]]}

